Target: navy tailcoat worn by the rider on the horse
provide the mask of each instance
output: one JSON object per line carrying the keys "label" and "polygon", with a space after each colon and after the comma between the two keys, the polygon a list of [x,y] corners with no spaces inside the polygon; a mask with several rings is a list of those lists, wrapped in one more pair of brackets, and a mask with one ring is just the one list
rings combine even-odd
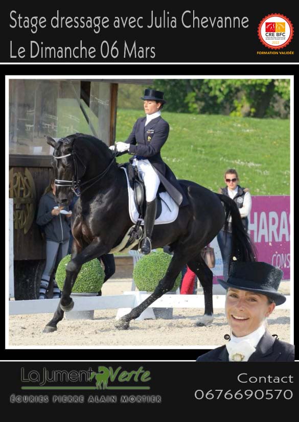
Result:
{"label": "navy tailcoat worn by the rider on the horse", "polygon": [[160,155],[160,150],[168,138],[169,124],[161,116],[151,120],[146,126],[145,123],[146,117],[135,122],[126,140],[126,143],[130,144],[128,153],[148,159],[173,200],[180,206],[188,205],[185,192]]}

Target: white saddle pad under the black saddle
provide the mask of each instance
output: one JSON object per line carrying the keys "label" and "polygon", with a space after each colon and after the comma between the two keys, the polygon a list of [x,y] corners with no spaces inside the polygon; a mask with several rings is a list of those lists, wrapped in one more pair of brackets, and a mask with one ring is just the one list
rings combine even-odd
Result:
{"label": "white saddle pad under the black saddle", "polygon": [[[126,169],[123,168],[123,167],[121,167],[121,169],[123,169],[123,171],[126,174],[126,178],[127,178],[130,219],[131,219],[132,223],[135,224],[137,222],[139,214],[138,214],[138,211],[137,211],[137,208],[136,208],[136,205],[135,205],[135,201],[134,201],[134,191],[130,186],[129,178],[128,178]],[[163,201],[161,201],[162,212],[161,212],[160,216],[155,220],[155,224],[172,223],[177,218],[178,206],[167,192],[161,192],[159,195],[160,195],[160,198],[163,199]],[[166,206],[164,201],[166,202],[166,204],[168,205],[168,207],[171,211],[168,209],[168,207]],[[141,224],[144,224],[143,220],[142,220]]]}

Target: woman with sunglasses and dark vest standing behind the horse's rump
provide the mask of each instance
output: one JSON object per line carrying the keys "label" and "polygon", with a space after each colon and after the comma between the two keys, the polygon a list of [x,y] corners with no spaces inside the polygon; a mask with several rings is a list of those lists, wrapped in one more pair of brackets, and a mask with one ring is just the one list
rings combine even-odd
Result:
{"label": "woman with sunglasses and dark vest standing behind the horse's rump", "polygon": [[[219,190],[219,193],[232,198],[240,211],[242,218],[242,223],[245,230],[248,230],[248,215],[251,210],[251,195],[249,189],[241,187],[239,182],[238,173],[235,169],[228,169],[224,173],[224,182],[225,187],[222,187]],[[223,277],[224,280],[228,278],[228,265],[229,260],[231,259],[232,253],[232,218],[229,217],[227,230],[224,229],[225,225],[222,227],[220,232],[217,235],[218,245],[221,251],[222,262],[223,262]]]}

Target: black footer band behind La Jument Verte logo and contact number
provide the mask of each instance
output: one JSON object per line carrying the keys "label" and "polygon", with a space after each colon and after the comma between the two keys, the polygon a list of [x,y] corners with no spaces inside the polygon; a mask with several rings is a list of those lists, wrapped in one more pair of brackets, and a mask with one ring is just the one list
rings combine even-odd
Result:
{"label": "black footer band behind La Jument Verte logo and contact number", "polygon": [[[75,378],[76,372],[78,373],[79,371],[88,371],[89,369],[95,372],[100,371],[100,365],[105,368],[111,368],[113,372],[117,372],[118,368],[120,368],[119,373],[121,371],[137,371],[141,368],[144,372],[148,371],[147,379],[142,382],[141,376],[138,376],[136,381],[133,377],[129,381],[119,381],[118,377],[116,377],[114,381],[108,380],[106,386],[100,384],[101,388],[95,389],[95,378],[90,381],[86,381],[84,375],[79,381]],[[115,406],[124,406],[121,403],[122,395],[149,397],[145,400],[150,400],[150,402],[139,404],[136,402],[137,399],[133,398],[131,403],[126,403],[126,406],[133,406],[133,411],[137,410],[135,406],[157,407],[157,411],[159,411],[159,406],[163,406],[168,408],[171,414],[175,414],[180,408],[202,411],[206,406],[211,409],[211,407],[215,408],[216,406],[217,408],[217,405],[229,405],[232,402],[234,406],[237,402],[245,407],[252,405],[252,403],[256,406],[257,402],[263,402],[264,405],[270,406],[271,410],[273,410],[282,406],[287,407],[294,403],[296,397],[296,384],[294,381],[297,376],[295,369],[298,369],[298,364],[287,362],[281,362],[278,365],[273,365],[271,362],[258,362],[256,364],[231,363],[229,365],[225,363],[122,361],[117,363],[109,361],[76,363],[31,362],[20,365],[7,363],[5,366],[1,365],[2,377],[5,380],[5,391],[2,393],[2,400],[5,405],[10,403],[12,411],[17,410],[19,407],[30,411],[32,406],[34,409],[36,409],[36,406],[45,407],[45,409],[48,409],[51,405],[59,407],[63,404],[65,406],[65,402],[63,403],[62,400],[68,403],[68,407],[76,395],[81,395],[85,408],[91,411],[94,410],[93,406],[104,405],[105,410],[107,410],[106,406],[112,406],[111,411],[114,411]],[[61,375],[57,373],[58,371],[64,371],[67,374],[66,376],[64,374]],[[70,373],[71,376],[68,378]],[[61,381],[58,382],[57,379]],[[115,387],[124,386],[135,387],[136,389],[114,389]],[[148,389],[142,389],[144,386],[148,387]],[[24,387],[27,389],[25,390]],[[32,387],[35,387],[35,389],[31,389]],[[50,389],[49,387],[54,388]],[[78,387],[79,389],[77,389]],[[138,389],[139,387],[141,388]],[[250,390],[252,390],[252,393]],[[279,390],[282,391],[279,392]],[[236,398],[234,398],[235,394]],[[108,400],[111,395],[117,397],[117,403],[88,402],[89,396],[96,397],[95,400],[97,400],[97,397],[104,396]],[[17,398],[17,396],[20,398]],[[27,396],[27,398],[24,398],[24,396]],[[40,400],[42,403],[20,404],[17,402],[18,400],[26,402],[30,400],[29,396],[41,396]],[[48,396],[47,401],[44,396]],[[31,400],[37,399],[33,398]],[[71,402],[71,406],[77,406],[78,408],[82,404]],[[227,412],[227,409],[222,408],[222,412]]]}

